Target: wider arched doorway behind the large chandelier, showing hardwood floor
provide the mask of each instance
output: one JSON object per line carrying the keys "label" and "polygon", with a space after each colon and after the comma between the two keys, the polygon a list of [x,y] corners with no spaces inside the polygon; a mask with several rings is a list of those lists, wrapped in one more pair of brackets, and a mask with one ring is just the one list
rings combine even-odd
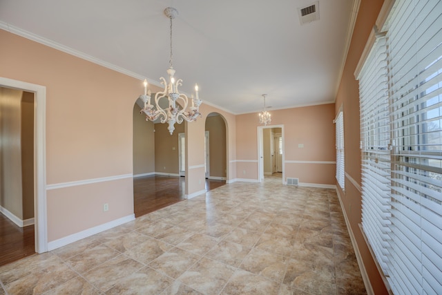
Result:
{"label": "wider arched doorway behind the large chandelier, showing hardwood floor", "polygon": [[[173,135],[167,124],[146,121],[142,102],[133,106],[133,206],[135,217],[184,200],[184,178],[180,177],[180,135],[185,124],[175,124]],[[159,120],[158,120],[159,121]]]}

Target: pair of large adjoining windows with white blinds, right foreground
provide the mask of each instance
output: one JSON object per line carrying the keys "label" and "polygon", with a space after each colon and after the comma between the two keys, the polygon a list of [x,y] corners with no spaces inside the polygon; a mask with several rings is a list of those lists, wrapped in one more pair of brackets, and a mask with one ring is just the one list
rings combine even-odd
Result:
{"label": "pair of large adjoining windows with white blinds, right foreground", "polygon": [[442,290],[441,23],[396,0],[359,75],[363,231],[394,294]]}

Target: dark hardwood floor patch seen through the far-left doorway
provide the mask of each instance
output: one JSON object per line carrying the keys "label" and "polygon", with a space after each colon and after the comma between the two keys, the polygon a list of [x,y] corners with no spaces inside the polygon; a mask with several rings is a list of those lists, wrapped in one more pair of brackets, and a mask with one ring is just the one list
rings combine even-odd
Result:
{"label": "dark hardwood floor patch seen through the far-left doorway", "polygon": [[0,213],[0,266],[35,254],[34,226],[18,227]]}

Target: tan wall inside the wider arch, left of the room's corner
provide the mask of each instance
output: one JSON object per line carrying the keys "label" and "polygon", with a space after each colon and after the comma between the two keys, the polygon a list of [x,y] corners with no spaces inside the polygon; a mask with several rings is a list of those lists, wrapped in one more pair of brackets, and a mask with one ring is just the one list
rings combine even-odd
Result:
{"label": "tan wall inside the wider arch, left of the room's corner", "polygon": [[155,172],[155,135],[153,122],[133,106],[133,175]]}

